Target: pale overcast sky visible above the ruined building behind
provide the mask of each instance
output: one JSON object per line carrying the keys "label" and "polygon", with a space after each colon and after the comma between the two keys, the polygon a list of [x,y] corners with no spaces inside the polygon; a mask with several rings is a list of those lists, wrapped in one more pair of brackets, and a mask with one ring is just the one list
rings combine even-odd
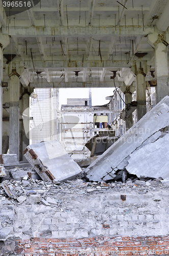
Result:
{"label": "pale overcast sky visible above the ruined building behind", "polygon": [[[109,102],[105,97],[113,95],[115,88],[92,88],[92,105],[104,105]],[[67,98],[89,98],[89,88],[59,89],[60,106],[67,104]]]}

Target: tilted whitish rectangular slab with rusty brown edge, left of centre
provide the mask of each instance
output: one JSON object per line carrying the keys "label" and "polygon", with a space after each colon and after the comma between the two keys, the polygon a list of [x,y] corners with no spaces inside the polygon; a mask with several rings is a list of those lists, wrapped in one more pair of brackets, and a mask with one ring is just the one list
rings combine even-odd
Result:
{"label": "tilted whitish rectangular slab with rusty brown edge, left of centre", "polygon": [[57,140],[29,145],[23,154],[44,181],[62,182],[81,172]]}

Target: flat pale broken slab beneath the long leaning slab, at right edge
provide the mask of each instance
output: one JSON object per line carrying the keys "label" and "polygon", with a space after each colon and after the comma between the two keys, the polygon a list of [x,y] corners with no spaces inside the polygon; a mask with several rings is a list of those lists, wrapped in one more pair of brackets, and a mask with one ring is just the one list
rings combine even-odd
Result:
{"label": "flat pale broken slab beneath the long leaning slab, at right edge", "polygon": [[[137,177],[146,176],[163,179],[169,177],[169,134],[149,143],[130,155],[126,169]],[[139,159],[139,164],[138,164]]]}

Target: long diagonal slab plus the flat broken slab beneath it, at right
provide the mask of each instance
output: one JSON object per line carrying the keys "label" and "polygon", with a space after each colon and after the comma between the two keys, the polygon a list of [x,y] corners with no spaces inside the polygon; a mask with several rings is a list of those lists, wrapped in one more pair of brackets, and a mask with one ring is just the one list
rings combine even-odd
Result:
{"label": "long diagonal slab plus the flat broken slab beneath it, at right", "polygon": [[[114,179],[117,170],[126,169],[131,174],[137,174],[138,177],[140,175],[154,178],[162,175],[164,176],[162,178],[168,177],[167,126],[169,126],[168,96],[155,105],[85,170],[87,178],[91,181],[106,181]],[[160,143],[164,143],[165,153],[162,150],[163,144],[161,146]]]}

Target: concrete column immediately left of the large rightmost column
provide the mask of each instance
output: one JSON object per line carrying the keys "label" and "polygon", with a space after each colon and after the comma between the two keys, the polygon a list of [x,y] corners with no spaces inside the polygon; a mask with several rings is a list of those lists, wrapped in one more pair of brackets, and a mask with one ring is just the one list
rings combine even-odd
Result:
{"label": "concrete column immediately left of the large rightmost column", "polygon": [[137,121],[146,114],[146,74],[147,66],[145,61],[138,61],[135,65]]}

